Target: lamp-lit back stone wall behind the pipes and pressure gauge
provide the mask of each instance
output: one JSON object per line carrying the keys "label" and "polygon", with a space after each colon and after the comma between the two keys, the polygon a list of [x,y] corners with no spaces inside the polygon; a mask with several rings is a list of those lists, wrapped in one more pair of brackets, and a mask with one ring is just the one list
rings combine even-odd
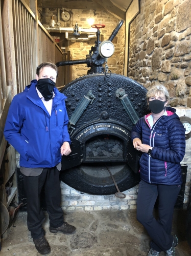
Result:
{"label": "lamp-lit back stone wall behind the pipes and pressure gauge", "polygon": [[[113,29],[116,27],[119,19],[115,18],[112,14],[103,10],[96,10],[97,15],[93,15],[93,10],[69,10],[71,13],[71,18],[68,22],[61,21],[61,27],[74,27],[75,23],[78,23],[78,26],[81,28],[90,29],[90,25],[88,25],[87,18],[94,18],[94,24],[105,24],[106,27],[101,29],[101,41],[107,40],[111,35]],[[55,22],[57,22],[57,9],[49,9],[42,8],[42,24],[44,26],[50,24],[51,15],[54,16]],[[65,47],[66,51],[70,51],[71,60],[84,60],[86,58],[86,54],[89,54],[89,50],[91,46],[94,46],[94,42],[97,38],[92,38],[89,41],[80,41],[76,40],[76,42],[67,41],[65,38],[65,33],[50,33],[52,36],[60,36],[60,47]],[[83,35],[83,34],[82,34]],[[84,37],[87,35],[84,34]],[[125,23],[118,32],[118,34],[114,37],[112,41],[115,46],[115,52],[113,56],[108,59],[109,69],[116,74],[123,74],[124,68],[124,54],[125,54]],[[75,80],[80,76],[87,74],[86,64],[79,64],[71,66],[71,78]]]}

